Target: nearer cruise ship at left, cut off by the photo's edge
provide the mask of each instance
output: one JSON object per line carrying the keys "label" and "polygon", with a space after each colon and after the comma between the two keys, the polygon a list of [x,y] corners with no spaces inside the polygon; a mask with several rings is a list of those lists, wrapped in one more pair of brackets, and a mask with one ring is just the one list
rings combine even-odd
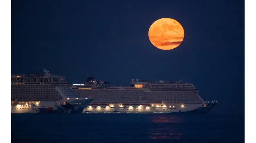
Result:
{"label": "nearer cruise ship at left, cut off by the photo's edge", "polygon": [[93,98],[78,98],[65,76],[11,75],[11,113],[82,113]]}

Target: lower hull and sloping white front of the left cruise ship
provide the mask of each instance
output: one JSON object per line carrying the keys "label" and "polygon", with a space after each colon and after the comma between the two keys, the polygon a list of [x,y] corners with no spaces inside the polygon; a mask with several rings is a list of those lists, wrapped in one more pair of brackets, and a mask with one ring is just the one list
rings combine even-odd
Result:
{"label": "lower hull and sloping white front of the left cruise ship", "polygon": [[12,102],[11,113],[82,113],[93,98],[77,98],[67,87],[55,87],[61,95],[58,101]]}

